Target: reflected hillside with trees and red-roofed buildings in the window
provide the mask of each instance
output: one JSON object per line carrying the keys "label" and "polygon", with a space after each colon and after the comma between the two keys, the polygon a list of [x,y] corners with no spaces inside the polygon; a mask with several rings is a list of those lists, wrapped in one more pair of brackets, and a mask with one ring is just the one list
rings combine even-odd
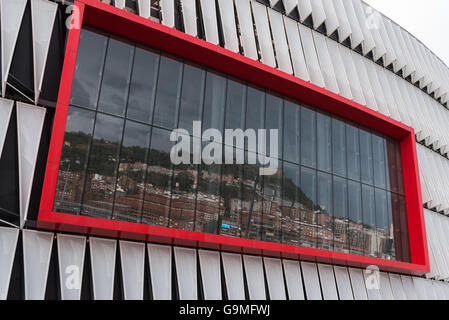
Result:
{"label": "reflected hillside with trees and red-roofed buildings in the window", "polygon": [[[168,152],[153,149],[148,154],[138,146],[123,146],[118,163],[118,145],[104,140],[95,141],[89,160],[89,172],[95,174],[86,176],[93,192],[84,196],[81,207],[77,201],[90,139],[85,133],[66,133],[62,159],[71,165],[59,171],[59,184],[65,185],[64,202],[56,203],[60,211],[235,237],[245,236],[250,221],[247,236],[265,241],[361,255],[394,251],[387,230],[333,216],[282,169],[260,181],[255,165],[222,165],[217,172],[201,165],[198,172],[196,166],[173,168]],[[56,199],[62,199],[62,188],[58,190]]]}

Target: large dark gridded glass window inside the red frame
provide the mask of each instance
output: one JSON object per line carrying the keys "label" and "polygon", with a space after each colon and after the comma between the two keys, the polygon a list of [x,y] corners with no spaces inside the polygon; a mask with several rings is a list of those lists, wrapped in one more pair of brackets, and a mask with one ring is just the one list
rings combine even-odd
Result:
{"label": "large dark gridded glass window inside the red frame", "polygon": [[410,261],[398,141],[152,49],[80,41],[55,211]]}

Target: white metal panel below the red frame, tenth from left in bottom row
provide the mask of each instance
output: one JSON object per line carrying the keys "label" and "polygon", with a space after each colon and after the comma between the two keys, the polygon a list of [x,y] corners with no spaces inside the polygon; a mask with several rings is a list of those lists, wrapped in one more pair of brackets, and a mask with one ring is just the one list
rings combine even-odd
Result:
{"label": "white metal panel below the red frame, tenth from left in bottom row", "polygon": [[263,275],[262,257],[243,256],[246,282],[250,300],[265,300],[265,280]]}

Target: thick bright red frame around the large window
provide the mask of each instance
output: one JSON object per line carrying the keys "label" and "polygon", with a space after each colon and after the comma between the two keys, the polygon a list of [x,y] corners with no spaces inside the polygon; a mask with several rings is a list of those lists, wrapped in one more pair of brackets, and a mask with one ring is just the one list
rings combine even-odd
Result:
{"label": "thick bright red frame around the large window", "polygon": [[[78,0],[75,1],[75,7],[78,8],[73,11],[72,17],[75,28],[68,33],[37,227],[346,266],[377,265],[381,270],[413,275],[430,271],[415,133],[412,128],[292,75],[113,6],[96,0]],[[79,22],[78,27],[95,27],[241,78],[399,140],[411,263],[53,212],[81,31],[76,28],[76,22]]]}

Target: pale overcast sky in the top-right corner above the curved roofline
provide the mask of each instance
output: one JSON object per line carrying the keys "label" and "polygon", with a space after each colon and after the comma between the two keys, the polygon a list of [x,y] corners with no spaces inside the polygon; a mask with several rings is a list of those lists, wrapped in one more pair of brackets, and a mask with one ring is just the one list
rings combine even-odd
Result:
{"label": "pale overcast sky in the top-right corner above the curved roofline", "polygon": [[364,0],[421,40],[449,66],[448,0]]}

